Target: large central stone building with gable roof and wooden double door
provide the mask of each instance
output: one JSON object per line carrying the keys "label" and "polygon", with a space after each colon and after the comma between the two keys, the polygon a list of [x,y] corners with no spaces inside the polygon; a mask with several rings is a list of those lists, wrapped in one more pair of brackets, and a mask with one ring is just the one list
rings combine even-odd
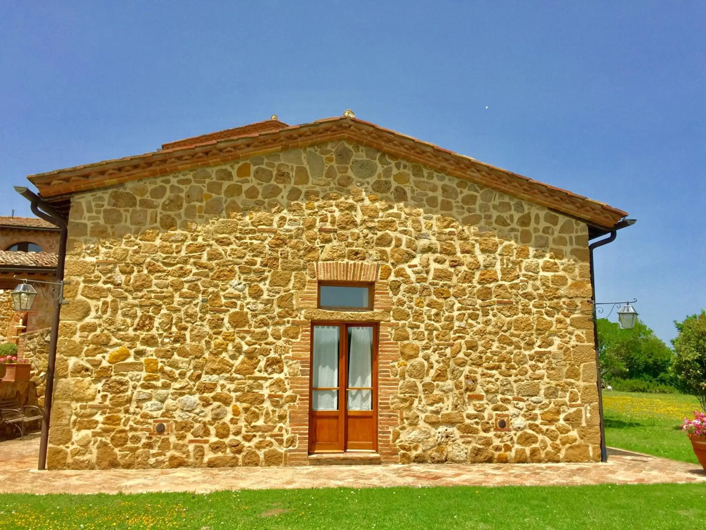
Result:
{"label": "large central stone building with gable roof and wooden double door", "polygon": [[350,113],[30,181],[69,219],[50,469],[600,459],[621,210]]}

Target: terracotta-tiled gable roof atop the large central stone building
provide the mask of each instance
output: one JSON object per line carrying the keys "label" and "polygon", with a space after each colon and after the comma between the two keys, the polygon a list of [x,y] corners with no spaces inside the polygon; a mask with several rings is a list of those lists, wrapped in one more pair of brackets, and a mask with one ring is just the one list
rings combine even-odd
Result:
{"label": "terracotta-tiled gable roof atop the large central stone building", "polygon": [[598,227],[611,229],[628,215],[618,208],[568,192],[566,189],[550,186],[469,156],[448,151],[433,143],[364,122],[349,113],[342,117],[292,126],[287,126],[273,117],[270,122],[258,122],[165,143],[159,151],[30,175],[28,179],[35,184],[47,202],[54,204],[61,211],[68,212],[71,195],[91,189],[196,167],[225,164],[263,153],[341,140],[378,149],[448,175],[468,179]]}

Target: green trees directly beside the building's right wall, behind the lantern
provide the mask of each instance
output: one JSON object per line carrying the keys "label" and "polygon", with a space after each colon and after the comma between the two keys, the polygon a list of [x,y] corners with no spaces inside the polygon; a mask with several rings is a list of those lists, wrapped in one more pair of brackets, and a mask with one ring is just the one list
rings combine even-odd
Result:
{"label": "green trees directly beside the building's right wall, behind the lantern", "polygon": [[617,322],[598,319],[597,330],[601,377],[669,384],[674,353],[645,322],[638,320],[633,329],[622,329]]}

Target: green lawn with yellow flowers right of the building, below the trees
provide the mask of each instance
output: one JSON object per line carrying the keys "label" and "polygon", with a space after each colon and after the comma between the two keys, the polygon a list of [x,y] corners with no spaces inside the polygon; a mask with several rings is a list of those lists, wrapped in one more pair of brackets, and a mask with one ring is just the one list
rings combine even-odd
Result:
{"label": "green lawn with yellow flowers right of the building, below the trees", "polygon": [[606,444],[698,464],[679,425],[700,410],[694,396],[603,391]]}

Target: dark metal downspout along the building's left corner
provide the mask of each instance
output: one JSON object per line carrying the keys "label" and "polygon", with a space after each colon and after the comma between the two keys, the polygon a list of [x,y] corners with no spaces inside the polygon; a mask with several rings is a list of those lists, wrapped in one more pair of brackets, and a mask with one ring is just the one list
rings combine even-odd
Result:
{"label": "dark metal downspout along the building's left corner", "polygon": [[[25,187],[16,186],[15,191],[30,201],[30,208],[35,216],[57,225],[59,234],[59,256],[56,261],[56,281],[64,280],[64,262],[66,261],[66,238],[68,235],[67,219],[42,198]],[[42,208],[42,210],[40,210]],[[60,291],[61,293],[61,291]],[[61,313],[61,294],[54,301],[52,312],[52,328],[49,335],[49,358],[47,360],[47,377],[44,389],[44,407],[42,411],[42,436],[40,438],[40,458],[37,469],[47,469],[47,447],[49,445],[49,420],[52,417],[52,398],[54,396],[54,370],[56,368],[56,343],[59,341],[59,316]]]}

